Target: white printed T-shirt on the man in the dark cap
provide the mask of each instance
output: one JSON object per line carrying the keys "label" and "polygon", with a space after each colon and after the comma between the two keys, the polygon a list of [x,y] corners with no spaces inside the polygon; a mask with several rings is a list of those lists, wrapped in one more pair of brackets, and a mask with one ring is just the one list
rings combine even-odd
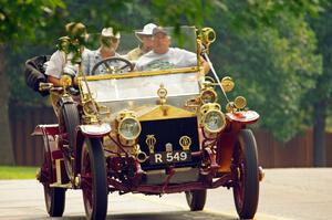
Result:
{"label": "white printed T-shirt on the man in the dark cap", "polygon": [[163,54],[151,51],[142,55],[137,60],[135,69],[138,71],[151,71],[195,65],[197,65],[196,53],[178,48],[169,48],[168,51]]}

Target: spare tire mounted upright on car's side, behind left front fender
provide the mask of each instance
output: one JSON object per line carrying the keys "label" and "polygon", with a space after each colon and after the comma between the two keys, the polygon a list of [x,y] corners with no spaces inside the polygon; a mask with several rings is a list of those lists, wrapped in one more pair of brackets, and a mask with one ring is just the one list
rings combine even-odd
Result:
{"label": "spare tire mounted upright on car's side, behind left front fender", "polygon": [[[74,103],[65,103],[62,107],[62,115],[64,121],[64,132],[68,134],[68,140],[69,140],[69,149],[72,151],[75,147],[76,143],[76,127],[80,125],[80,116],[77,106]],[[64,164],[65,164],[65,170],[68,174],[68,177],[72,180],[73,175],[73,168],[71,163],[71,157],[64,157]]]}

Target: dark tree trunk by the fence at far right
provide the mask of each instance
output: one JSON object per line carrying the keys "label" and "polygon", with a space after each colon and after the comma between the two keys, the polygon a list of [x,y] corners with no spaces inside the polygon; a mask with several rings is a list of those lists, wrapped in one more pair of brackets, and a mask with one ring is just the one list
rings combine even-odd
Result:
{"label": "dark tree trunk by the fence at far right", "polygon": [[313,165],[315,167],[326,166],[326,140],[325,140],[325,119],[328,103],[320,101],[314,109],[313,125]]}

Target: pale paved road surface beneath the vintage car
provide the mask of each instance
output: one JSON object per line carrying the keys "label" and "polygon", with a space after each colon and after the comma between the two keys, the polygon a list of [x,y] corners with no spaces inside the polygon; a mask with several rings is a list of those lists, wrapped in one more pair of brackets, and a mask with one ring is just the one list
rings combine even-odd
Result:
{"label": "pale paved road surface beneath the vintage car", "polygon": [[[85,219],[82,193],[68,190],[63,218],[49,218],[42,185],[37,180],[0,181],[0,219]],[[232,191],[208,190],[204,211],[190,212],[184,193],[108,195],[107,219],[232,220],[238,219]],[[267,169],[260,185],[257,220],[332,219],[332,168]]]}

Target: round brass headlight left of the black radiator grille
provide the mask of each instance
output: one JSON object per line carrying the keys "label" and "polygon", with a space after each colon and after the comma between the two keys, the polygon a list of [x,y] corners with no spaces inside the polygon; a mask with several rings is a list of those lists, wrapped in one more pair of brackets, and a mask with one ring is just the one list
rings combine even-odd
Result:
{"label": "round brass headlight left of the black radiator grille", "polygon": [[120,122],[118,134],[127,140],[136,139],[141,133],[141,124],[134,117],[127,117]]}

